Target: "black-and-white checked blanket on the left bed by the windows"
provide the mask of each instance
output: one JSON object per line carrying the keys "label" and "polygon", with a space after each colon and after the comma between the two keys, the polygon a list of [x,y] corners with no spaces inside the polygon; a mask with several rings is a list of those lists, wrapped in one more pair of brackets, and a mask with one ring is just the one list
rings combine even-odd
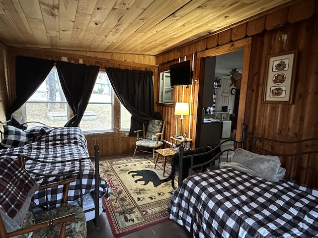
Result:
{"label": "black-and-white checked blanket on the left bed by the windows", "polygon": [[[60,162],[50,164],[26,160],[25,169],[50,176],[45,181],[43,176],[32,174],[32,177],[40,185],[70,177],[77,178],[75,182],[70,184],[68,195],[68,201],[74,201],[80,197],[79,161],[74,161],[74,159],[89,157],[86,144],[86,139],[79,127],[61,127],[52,129],[38,140],[24,146],[2,149],[0,154],[14,153],[43,162]],[[66,178],[60,176],[65,173],[75,174]],[[83,194],[94,191],[95,167],[89,158],[81,160],[81,174]],[[101,197],[109,198],[110,196],[110,187],[104,179],[100,179],[99,192]],[[51,207],[62,203],[63,185],[52,188],[47,193]],[[33,196],[33,205],[45,206],[47,201],[45,196],[45,190],[37,191]]]}

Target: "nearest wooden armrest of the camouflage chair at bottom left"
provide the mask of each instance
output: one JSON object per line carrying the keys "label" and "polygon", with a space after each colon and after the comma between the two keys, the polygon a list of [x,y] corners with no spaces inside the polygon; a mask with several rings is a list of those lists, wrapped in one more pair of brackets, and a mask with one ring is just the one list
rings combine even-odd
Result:
{"label": "nearest wooden armrest of the camouflage chair at bottom left", "polygon": [[[25,228],[16,230],[14,232],[10,232],[10,233],[7,234],[7,237],[14,237],[14,236],[22,235],[22,234],[25,234],[25,233],[34,232],[34,231],[37,231],[37,230],[41,230],[43,228],[56,226],[56,225],[58,225],[60,223],[75,222],[75,216],[76,216],[76,214],[72,213],[72,214],[67,215],[67,216],[63,216],[63,217],[60,217],[60,218],[54,218],[53,220],[41,222],[41,223],[38,223],[36,225],[32,225],[32,226],[29,226],[29,227],[25,227]],[[64,236],[65,236],[65,228],[64,228],[64,231],[62,229],[61,234],[60,234],[60,237],[64,237]]]}

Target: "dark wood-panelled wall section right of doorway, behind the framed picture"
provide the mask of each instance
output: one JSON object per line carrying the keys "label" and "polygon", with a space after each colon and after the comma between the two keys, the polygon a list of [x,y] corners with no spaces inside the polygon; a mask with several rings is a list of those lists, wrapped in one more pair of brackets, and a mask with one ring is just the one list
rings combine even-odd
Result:
{"label": "dark wood-panelled wall section right of doorway, behind the framed picture", "polygon": [[[249,109],[245,114],[248,133],[276,140],[295,141],[318,138],[318,15],[311,19],[272,31],[265,31],[253,37],[251,65],[247,90]],[[287,35],[287,41],[282,41],[282,34]],[[264,78],[266,74],[267,56],[279,52],[297,50],[298,59],[295,70],[295,91],[292,105],[263,103]],[[304,143],[302,146],[283,146],[281,144],[263,145],[270,151],[281,153],[300,153],[304,149],[317,151],[318,140],[314,143]],[[304,178],[307,158],[294,158],[295,168],[292,168],[292,178]],[[296,163],[295,163],[296,162]],[[284,167],[289,169],[290,161],[282,160]],[[318,158],[312,156],[309,162],[309,184],[318,187]]]}

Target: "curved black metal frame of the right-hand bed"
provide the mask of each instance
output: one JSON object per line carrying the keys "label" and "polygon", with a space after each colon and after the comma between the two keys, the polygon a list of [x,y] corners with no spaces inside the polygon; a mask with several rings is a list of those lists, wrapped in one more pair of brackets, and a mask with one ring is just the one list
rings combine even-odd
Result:
{"label": "curved black metal frame of the right-hand bed", "polygon": [[[276,155],[280,157],[282,167],[286,169],[286,179],[293,179],[295,181],[305,183],[307,184],[310,178],[314,178],[315,174],[315,168],[313,168],[312,160],[318,159],[318,137],[315,138],[309,138],[304,140],[298,140],[298,141],[280,141],[275,139],[269,139],[254,135],[248,135],[247,134],[247,128],[248,126],[245,124],[243,126],[243,133],[242,133],[242,139],[241,141],[236,141],[235,139],[226,139],[220,144],[218,144],[216,147],[213,148],[213,150],[200,153],[200,154],[194,154],[194,155],[187,155],[183,156],[184,153],[184,147],[180,145],[179,147],[179,167],[182,168],[183,166],[183,159],[191,158],[191,166],[190,166],[190,172],[189,174],[193,174],[193,170],[197,168],[203,168],[203,166],[210,164],[210,166],[215,164],[216,160],[219,160],[221,156],[226,156],[226,161],[229,159],[230,152],[234,152],[237,148],[241,147],[243,149],[249,150],[254,153],[262,154],[262,155]],[[222,145],[224,145],[227,142],[233,142],[233,149],[225,149],[221,150],[217,155],[215,155],[210,161],[206,163],[202,163],[199,165],[193,165],[193,160],[196,157],[206,155],[206,154],[213,154],[217,150],[221,149]],[[248,142],[248,143],[247,143]],[[276,145],[276,146],[275,146]],[[281,146],[277,146],[281,145]],[[302,146],[300,146],[302,145]],[[286,147],[289,146],[289,151],[292,152],[286,152]],[[276,147],[276,148],[274,148]],[[272,148],[272,149],[268,149]],[[280,148],[280,150],[278,150]],[[303,148],[303,149],[302,149]],[[295,173],[296,166],[298,166],[299,161],[305,161],[306,165],[302,165],[302,172]],[[179,177],[178,177],[178,186],[182,183],[182,170],[178,170]],[[310,186],[317,186],[317,184],[309,184]]]}

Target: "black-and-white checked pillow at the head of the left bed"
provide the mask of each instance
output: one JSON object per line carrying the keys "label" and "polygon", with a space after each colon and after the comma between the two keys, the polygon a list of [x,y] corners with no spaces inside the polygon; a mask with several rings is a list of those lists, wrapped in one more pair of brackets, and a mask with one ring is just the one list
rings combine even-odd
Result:
{"label": "black-and-white checked pillow at the head of the left bed", "polygon": [[12,125],[3,125],[3,140],[1,145],[6,148],[23,146],[29,142],[26,133]]}

